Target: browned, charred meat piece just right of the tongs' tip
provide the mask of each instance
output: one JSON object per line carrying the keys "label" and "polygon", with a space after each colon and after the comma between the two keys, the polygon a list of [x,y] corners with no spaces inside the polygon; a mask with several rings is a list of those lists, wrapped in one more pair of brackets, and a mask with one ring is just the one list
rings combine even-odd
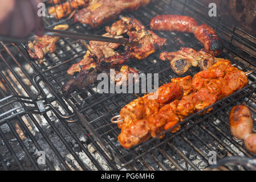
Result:
{"label": "browned, charred meat piece just right of the tongs' tip", "polygon": [[136,46],[130,47],[133,58],[145,59],[157,49],[160,49],[166,42],[165,38],[160,38],[154,32],[147,30],[139,20],[128,17],[122,17],[121,19],[128,26],[129,41],[139,42]]}

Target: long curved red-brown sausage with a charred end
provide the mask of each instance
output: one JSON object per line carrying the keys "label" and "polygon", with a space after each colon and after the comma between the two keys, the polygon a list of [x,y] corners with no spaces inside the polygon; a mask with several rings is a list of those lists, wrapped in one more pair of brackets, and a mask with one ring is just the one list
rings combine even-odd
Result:
{"label": "long curved red-brown sausage with a charred end", "polygon": [[159,15],[151,20],[152,30],[189,32],[204,45],[205,50],[218,56],[223,50],[221,38],[206,24],[198,25],[195,19],[181,15]]}

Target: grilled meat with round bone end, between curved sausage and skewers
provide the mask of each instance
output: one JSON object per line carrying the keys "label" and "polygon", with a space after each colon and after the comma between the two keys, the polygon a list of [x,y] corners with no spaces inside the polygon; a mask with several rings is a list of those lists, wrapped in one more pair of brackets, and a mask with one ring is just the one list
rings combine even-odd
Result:
{"label": "grilled meat with round bone end, between curved sausage and skewers", "polygon": [[176,52],[162,52],[160,59],[170,61],[170,67],[178,75],[186,73],[192,66],[199,66],[201,70],[208,69],[221,60],[205,52],[204,49],[196,51],[192,48],[181,48],[180,51]]}

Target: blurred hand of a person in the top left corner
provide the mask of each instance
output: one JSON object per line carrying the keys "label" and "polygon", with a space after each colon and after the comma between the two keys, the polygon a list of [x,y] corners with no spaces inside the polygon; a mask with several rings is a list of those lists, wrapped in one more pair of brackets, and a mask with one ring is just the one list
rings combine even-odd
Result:
{"label": "blurred hand of a person in the top left corner", "polygon": [[41,0],[0,0],[0,35],[25,38],[31,32],[43,36],[43,20],[38,16]]}

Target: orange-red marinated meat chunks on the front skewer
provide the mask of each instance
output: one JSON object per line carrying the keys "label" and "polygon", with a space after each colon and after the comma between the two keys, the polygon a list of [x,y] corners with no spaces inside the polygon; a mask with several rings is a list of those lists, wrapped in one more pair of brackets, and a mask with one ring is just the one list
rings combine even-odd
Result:
{"label": "orange-red marinated meat chunks on the front skewer", "polygon": [[[209,68],[209,70],[217,70],[218,67],[220,67],[219,70],[221,70],[224,65],[230,64],[226,63],[227,60],[222,62],[223,63],[218,62],[214,64]],[[198,75],[200,75],[200,72]],[[190,93],[184,95],[183,92],[183,96],[182,94],[180,95],[182,98],[180,96],[173,97],[173,101],[170,101],[167,104],[160,104],[157,100],[151,101],[151,103],[155,102],[155,105],[158,104],[151,115],[147,115],[145,113],[145,108],[148,107],[148,105],[145,104],[145,100],[147,100],[148,95],[137,98],[137,100],[124,106],[120,111],[123,121],[118,123],[121,128],[121,133],[118,137],[120,144],[125,148],[131,148],[136,144],[147,140],[149,135],[151,135],[151,137],[156,137],[157,135],[162,137],[163,135],[161,134],[164,130],[176,132],[180,129],[179,126],[174,127],[178,122],[183,121],[190,114],[205,109],[221,98],[229,96],[231,93],[234,93],[248,84],[245,72],[238,69],[227,69],[226,72],[221,73],[218,76],[219,77],[212,78],[212,80],[208,80],[209,82],[206,82],[206,84],[200,88],[187,88],[188,90],[191,90]],[[189,77],[186,77],[185,80],[173,80],[173,82],[175,81],[180,84],[190,82],[190,85],[193,85],[193,79],[191,83],[191,80],[189,81]],[[185,88],[182,85],[180,86]],[[194,92],[192,92],[193,90]],[[172,95],[173,93],[170,94]],[[166,98],[168,97],[169,96],[166,94]],[[212,108],[208,109],[206,112],[211,109]],[[159,112],[157,113],[158,110]],[[137,123],[137,121],[139,123]],[[139,131],[143,132],[143,134],[139,133]]]}

